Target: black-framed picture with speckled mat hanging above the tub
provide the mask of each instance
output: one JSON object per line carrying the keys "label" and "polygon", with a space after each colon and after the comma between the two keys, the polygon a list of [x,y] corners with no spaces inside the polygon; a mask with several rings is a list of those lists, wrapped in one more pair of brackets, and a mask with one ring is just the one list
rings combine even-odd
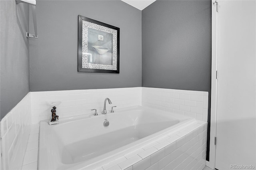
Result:
{"label": "black-framed picture with speckled mat hanging above the tub", "polygon": [[120,28],[78,16],[78,71],[119,73]]}

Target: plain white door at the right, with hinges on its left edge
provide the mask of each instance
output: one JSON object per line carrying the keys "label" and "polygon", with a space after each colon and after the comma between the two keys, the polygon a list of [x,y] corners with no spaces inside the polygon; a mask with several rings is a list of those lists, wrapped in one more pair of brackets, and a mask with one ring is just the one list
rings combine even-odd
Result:
{"label": "plain white door at the right, with hinges on its left edge", "polygon": [[255,0],[218,2],[217,81],[215,167],[256,169]]}

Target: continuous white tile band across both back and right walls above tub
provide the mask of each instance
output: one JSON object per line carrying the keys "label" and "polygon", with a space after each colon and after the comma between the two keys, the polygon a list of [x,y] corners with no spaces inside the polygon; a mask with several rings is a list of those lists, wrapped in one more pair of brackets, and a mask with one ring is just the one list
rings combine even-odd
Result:
{"label": "continuous white tile band across both back and right walls above tub", "polygon": [[[106,97],[112,101],[111,106],[115,105],[118,108],[143,105],[200,121],[207,121],[208,117],[208,92],[131,87],[31,92],[32,124],[51,118],[51,107],[47,102],[62,102],[56,109],[57,115],[61,118],[92,114],[91,109],[97,109],[100,113]],[[109,108],[110,106],[108,111]]]}

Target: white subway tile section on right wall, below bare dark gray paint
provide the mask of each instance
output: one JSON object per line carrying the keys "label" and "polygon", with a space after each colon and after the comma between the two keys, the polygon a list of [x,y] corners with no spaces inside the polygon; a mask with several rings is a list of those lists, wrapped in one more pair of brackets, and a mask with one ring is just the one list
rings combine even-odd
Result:
{"label": "white subway tile section on right wall, below bare dark gray paint", "polygon": [[142,87],[142,105],[207,122],[208,92]]}

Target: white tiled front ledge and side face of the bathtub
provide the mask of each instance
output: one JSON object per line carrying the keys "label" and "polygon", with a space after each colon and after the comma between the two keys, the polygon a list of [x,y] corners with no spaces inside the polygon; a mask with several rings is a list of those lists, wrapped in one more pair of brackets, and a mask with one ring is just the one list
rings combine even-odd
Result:
{"label": "white tiled front ledge and side face of the bathtub", "polygon": [[207,123],[198,121],[134,150],[97,170],[202,170]]}

